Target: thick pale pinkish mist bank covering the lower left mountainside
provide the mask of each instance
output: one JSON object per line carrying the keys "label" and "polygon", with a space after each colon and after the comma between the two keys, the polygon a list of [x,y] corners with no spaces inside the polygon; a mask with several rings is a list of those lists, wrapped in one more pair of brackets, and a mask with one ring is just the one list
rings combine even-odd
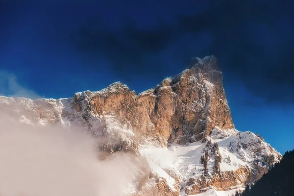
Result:
{"label": "thick pale pinkish mist bank covering the lower left mountainside", "polygon": [[127,156],[98,159],[77,128],[34,127],[0,114],[0,196],[120,196],[132,177]]}

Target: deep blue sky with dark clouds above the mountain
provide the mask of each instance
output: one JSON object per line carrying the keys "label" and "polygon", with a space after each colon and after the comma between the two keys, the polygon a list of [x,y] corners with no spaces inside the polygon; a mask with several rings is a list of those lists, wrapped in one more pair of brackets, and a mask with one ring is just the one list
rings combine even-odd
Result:
{"label": "deep blue sky with dark clouds above the mountain", "polygon": [[0,0],[0,94],[72,97],[115,81],[139,93],[215,55],[236,128],[283,153],[294,148],[293,13],[291,0]]}

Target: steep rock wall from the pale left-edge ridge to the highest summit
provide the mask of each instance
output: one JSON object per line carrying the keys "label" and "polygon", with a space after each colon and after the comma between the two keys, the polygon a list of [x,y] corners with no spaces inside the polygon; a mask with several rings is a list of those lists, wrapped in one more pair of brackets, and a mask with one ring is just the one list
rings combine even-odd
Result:
{"label": "steep rock wall from the pale left-edge ridge to the highest summit", "polygon": [[1,110],[9,110],[11,115],[29,123],[71,124],[79,118],[95,134],[102,130],[90,119],[100,121],[99,116],[115,115],[127,129],[137,135],[156,137],[165,146],[168,142],[201,140],[215,126],[234,128],[222,73],[214,56],[192,59],[191,69],[166,78],[139,95],[116,82],[98,92],[76,93],[73,98],[2,99]]}

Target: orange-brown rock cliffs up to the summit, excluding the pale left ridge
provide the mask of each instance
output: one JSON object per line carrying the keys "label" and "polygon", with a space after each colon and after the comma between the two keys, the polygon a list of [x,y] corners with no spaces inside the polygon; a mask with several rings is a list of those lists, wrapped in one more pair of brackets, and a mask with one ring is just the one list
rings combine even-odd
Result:
{"label": "orange-brown rock cliffs up to the summit, excluding the pale left ridge", "polygon": [[135,133],[161,137],[164,145],[176,139],[181,144],[201,140],[215,126],[234,128],[215,57],[195,58],[193,63],[191,69],[137,96],[120,82],[89,92],[91,110],[117,115]]}

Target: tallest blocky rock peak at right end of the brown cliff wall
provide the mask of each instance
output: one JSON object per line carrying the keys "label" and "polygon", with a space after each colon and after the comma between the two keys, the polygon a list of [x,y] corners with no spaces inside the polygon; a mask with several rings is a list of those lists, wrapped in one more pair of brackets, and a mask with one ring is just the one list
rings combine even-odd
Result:
{"label": "tallest blocky rock peak at right end of the brown cliff wall", "polygon": [[[174,96],[170,100],[176,106],[173,114],[181,119],[177,121],[184,126],[178,129],[181,136],[186,138],[182,137],[181,143],[187,138],[197,141],[207,137],[215,126],[234,128],[222,86],[222,73],[214,56],[193,58],[190,69],[165,78],[154,88],[154,93],[166,98]],[[162,103],[160,97],[156,100]],[[176,134],[172,132],[171,136],[173,141]]]}

